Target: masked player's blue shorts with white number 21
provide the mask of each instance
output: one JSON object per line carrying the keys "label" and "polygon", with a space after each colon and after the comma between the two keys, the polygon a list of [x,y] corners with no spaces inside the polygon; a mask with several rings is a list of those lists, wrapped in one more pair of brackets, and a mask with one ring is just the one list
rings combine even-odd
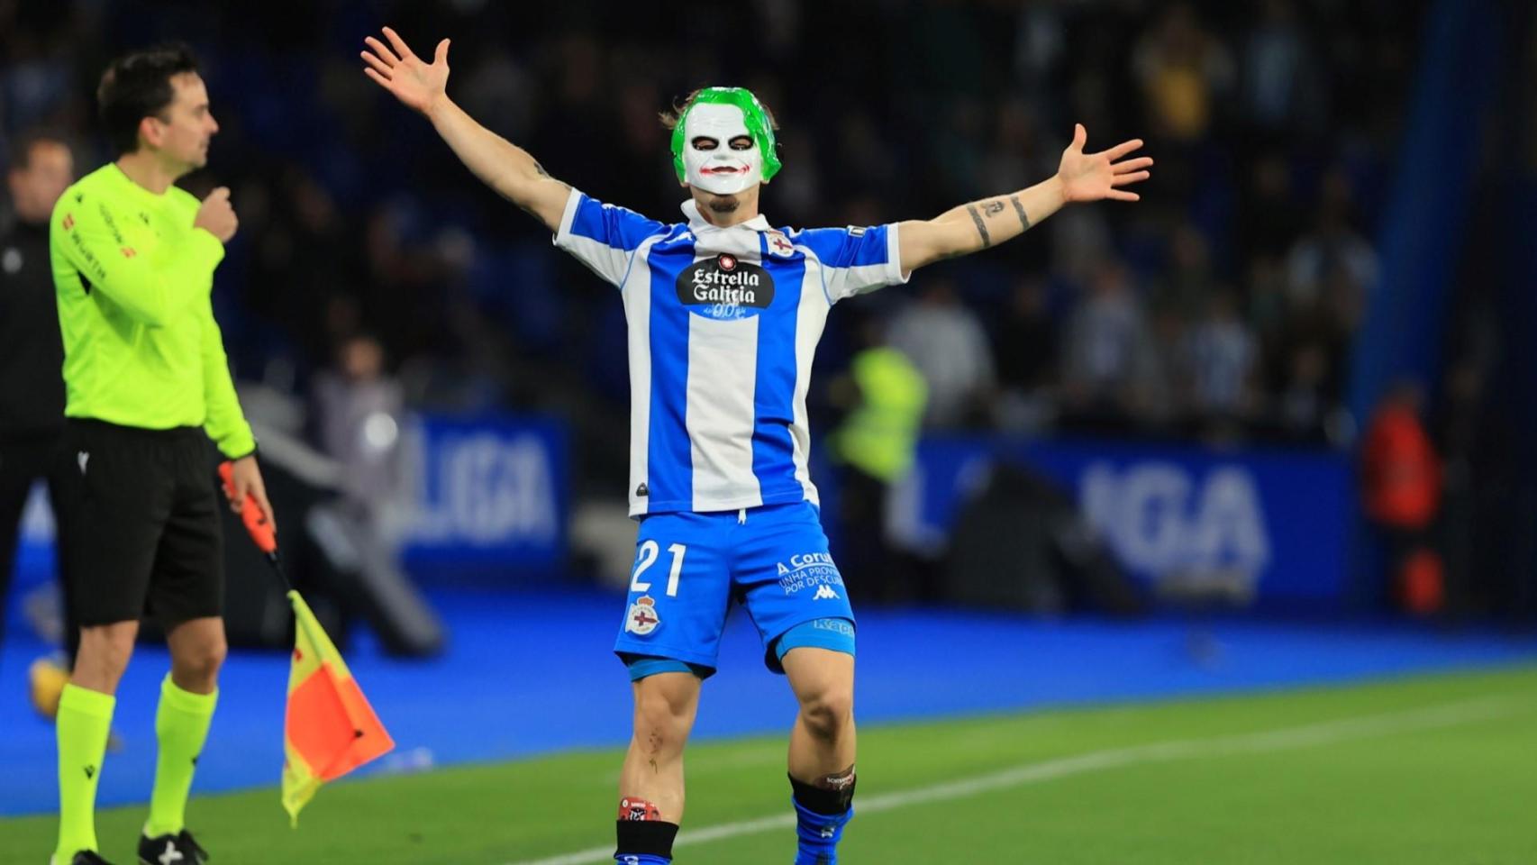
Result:
{"label": "masked player's blue shorts with white number 21", "polygon": [[775,641],[790,628],[818,619],[853,622],[812,502],[641,519],[613,651],[626,662],[667,658],[713,673],[732,602],[747,608],[775,673],[784,671]]}

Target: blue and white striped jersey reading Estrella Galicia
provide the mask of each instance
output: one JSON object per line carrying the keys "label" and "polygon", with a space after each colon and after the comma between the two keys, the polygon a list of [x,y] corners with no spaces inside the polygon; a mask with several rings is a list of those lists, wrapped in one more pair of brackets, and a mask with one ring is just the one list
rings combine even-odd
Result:
{"label": "blue and white striped jersey reading Estrella Galicia", "polygon": [[630,515],[816,502],[805,392],[827,310],[902,283],[896,226],[664,224],[572,191],[555,246],[619,287]]}

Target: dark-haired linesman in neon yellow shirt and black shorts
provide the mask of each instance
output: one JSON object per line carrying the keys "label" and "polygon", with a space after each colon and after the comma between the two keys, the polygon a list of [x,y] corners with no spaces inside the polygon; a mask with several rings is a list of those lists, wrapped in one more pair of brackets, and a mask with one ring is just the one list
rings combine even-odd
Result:
{"label": "dark-haired linesman in neon yellow shirt and black shorts", "polygon": [[65,556],[81,631],[58,704],[52,862],[103,862],[94,810],[112,694],[149,613],[164,627],[171,673],[160,687],[138,859],[201,865],[207,854],[184,814],[226,651],[209,438],[235,464],[232,501],[249,493],[272,519],[211,304],[214,269],[238,221],[227,189],[198,201],[172,186],[203,167],[218,132],[184,46],[115,60],[97,101],[120,155],[65,191],[51,223],[65,441],[75,467],[66,507],[81,527]]}

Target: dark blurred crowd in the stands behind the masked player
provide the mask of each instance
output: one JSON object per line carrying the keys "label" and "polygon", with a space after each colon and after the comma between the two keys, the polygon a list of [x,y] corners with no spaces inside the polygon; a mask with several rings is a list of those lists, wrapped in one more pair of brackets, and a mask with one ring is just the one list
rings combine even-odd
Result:
{"label": "dark blurred crowd in the stands behind the masked player", "polygon": [[1343,379],[1422,3],[310,6],[0,2],[0,129],[61,131],[89,169],[108,158],[106,60],[191,43],[223,131],[189,186],[231,186],[241,218],[215,293],[226,344],[238,378],[309,395],[318,442],[358,399],[558,410],[592,475],[624,476],[619,304],[364,78],[357,51],[383,23],[418,52],[452,37],[449,92],[470,114],[662,220],[684,192],[656,114],[699,85],[776,112],[773,224],[925,218],[1028,186],[1076,121],[1090,149],[1142,137],[1142,203],[1070,209],[850,304],[821,378],[868,324],[922,373],[928,429],[1353,436]]}

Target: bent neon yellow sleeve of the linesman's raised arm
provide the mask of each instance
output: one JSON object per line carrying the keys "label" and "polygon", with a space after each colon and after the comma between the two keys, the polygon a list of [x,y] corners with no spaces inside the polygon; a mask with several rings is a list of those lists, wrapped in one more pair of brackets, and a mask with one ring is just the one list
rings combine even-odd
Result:
{"label": "bent neon yellow sleeve of the linesman's raised arm", "polygon": [[140,255],[132,235],[120,227],[132,224],[131,218],[88,197],[55,220],[55,230],[65,232],[60,246],[85,278],[86,290],[100,290],[134,321],[161,327],[175,310],[207,295],[224,244],[206,230],[194,230],[188,243],[158,244],[154,254]]}

